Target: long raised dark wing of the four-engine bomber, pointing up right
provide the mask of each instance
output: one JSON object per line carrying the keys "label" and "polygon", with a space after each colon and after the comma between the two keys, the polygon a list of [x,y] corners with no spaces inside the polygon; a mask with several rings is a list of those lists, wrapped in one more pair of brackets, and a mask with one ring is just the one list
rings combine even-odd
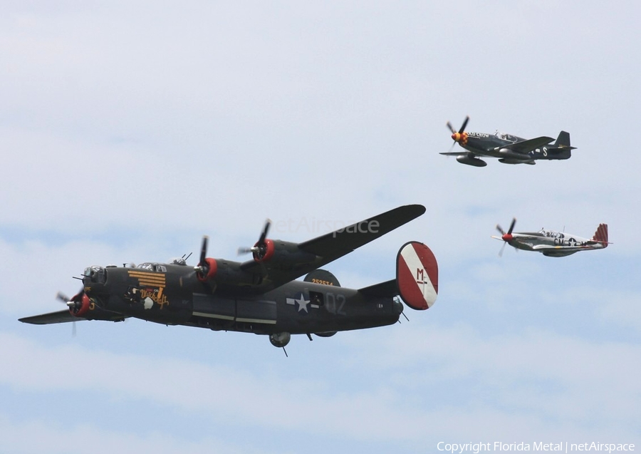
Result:
{"label": "long raised dark wing of the four-engine bomber, pointing up right", "polygon": [[349,254],[354,249],[382,237],[384,234],[419,217],[425,212],[422,205],[405,205],[384,212],[380,215],[357,222],[353,225],[338,229],[335,232],[298,243],[302,252],[316,255],[316,259],[306,263],[256,263],[253,260],[241,264],[241,269],[256,272],[263,276],[263,284],[256,288],[261,292],[280,287],[287,282],[322,267],[335,259]]}

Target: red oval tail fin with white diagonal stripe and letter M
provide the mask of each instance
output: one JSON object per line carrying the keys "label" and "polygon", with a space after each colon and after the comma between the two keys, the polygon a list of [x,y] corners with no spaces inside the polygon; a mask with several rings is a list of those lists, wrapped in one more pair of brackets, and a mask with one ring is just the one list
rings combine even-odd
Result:
{"label": "red oval tail fin with white diagonal stripe and letter M", "polygon": [[439,292],[439,266],[425,244],[409,242],[396,259],[396,281],[400,297],[412,309],[429,309]]}

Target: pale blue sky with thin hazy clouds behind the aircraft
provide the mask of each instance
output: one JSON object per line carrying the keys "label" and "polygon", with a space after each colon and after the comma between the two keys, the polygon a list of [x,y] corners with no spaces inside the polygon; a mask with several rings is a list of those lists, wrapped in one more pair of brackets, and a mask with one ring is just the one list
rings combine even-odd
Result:
{"label": "pale blue sky with thin hazy clouds behind the aircraft", "polygon": [[[1,453],[641,449],[638,2],[0,7]],[[577,149],[461,165],[439,152],[466,115]],[[425,242],[434,306],[293,336],[288,358],[252,334],[18,321],[63,309],[90,264],[197,256],[204,234],[236,259],[268,217],[300,242],[414,203],[422,217],[325,268],[365,287]],[[513,217],[581,237],[606,222],[613,244],[499,258]]]}

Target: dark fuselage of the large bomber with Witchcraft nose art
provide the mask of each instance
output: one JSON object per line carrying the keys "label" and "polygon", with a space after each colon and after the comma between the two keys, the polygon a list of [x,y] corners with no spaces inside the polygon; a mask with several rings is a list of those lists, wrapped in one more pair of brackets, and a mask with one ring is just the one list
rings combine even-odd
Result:
{"label": "dark fuselage of the large bomber with Witchcraft nose art", "polygon": [[[239,269],[239,263],[228,263]],[[183,264],[93,269],[83,278],[92,303],[87,319],[101,319],[103,309],[112,319],[118,313],[167,325],[310,334],[390,325],[402,312],[402,304],[392,297],[365,296],[358,290],[314,282],[292,281],[260,291],[260,277],[248,276],[242,284],[238,279],[233,284],[216,279],[201,282],[194,269]]]}

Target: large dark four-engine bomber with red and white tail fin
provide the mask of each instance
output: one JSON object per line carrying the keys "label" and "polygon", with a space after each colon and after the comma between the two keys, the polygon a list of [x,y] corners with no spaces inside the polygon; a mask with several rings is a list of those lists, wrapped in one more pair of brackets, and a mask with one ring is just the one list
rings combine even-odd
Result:
{"label": "large dark four-engine bomber with red and white tail fin", "polygon": [[[88,267],[80,292],[71,299],[61,297],[68,310],[20,321],[56,324],[135,317],[263,334],[283,349],[292,334],[306,334],[311,340],[311,334],[328,337],[337,331],[395,324],[403,311],[400,300],[424,310],[437,299],[438,265],[429,247],[407,242],[397,254],[395,279],[362,289],[340,287],[338,279],[320,267],[424,212],[422,205],[397,207],[301,243],[267,238],[268,220],[254,247],[239,249],[253,255],[246,262],[207,257],[204,237],[196,267],[187,266],[184,258],[137,267]],[[303,281],[296,280],[303,276]]]}

